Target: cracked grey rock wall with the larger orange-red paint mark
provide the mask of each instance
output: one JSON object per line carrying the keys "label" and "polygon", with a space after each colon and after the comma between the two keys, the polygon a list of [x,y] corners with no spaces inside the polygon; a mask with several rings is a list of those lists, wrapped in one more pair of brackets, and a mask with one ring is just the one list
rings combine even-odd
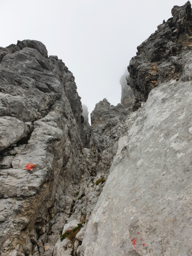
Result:
{"label": "cracked grey rock wall with the larger orange-red paint mark", "polygon": [[73,74],[41,42],[18,41],[0,56],[0,254],[51,256],[50,235],[58,240],[68,198],[88,176],[80,97]]}

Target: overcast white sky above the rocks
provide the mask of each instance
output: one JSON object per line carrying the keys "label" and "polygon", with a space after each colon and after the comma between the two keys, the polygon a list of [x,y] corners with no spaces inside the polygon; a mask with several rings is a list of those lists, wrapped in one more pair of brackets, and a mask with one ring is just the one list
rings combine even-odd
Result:
{"label": "overcast white sky above the rocks", "polygon": [[58,55],[93,111],[121,101],[119,79],[137,46],[187,0],[0,0],[0,46],[33,39]]}

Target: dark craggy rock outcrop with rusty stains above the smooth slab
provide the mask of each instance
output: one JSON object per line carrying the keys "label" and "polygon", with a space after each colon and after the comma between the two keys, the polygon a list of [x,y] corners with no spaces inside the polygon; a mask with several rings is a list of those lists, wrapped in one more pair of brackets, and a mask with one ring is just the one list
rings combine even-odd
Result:
{"label": "dark craggy rock outcrop with rusty stains above the smooth slab", "polygon": [[137,56],[129,63],[130,77],[127,81],[134,91],[134,109],[147,100],[148,93],[158,84],[171,79],[191,79],[190,60],[185,56],[192,49],[190,2],[174,6],[172,15],[166,22],[163,20],[157,31],[137,47]]}

